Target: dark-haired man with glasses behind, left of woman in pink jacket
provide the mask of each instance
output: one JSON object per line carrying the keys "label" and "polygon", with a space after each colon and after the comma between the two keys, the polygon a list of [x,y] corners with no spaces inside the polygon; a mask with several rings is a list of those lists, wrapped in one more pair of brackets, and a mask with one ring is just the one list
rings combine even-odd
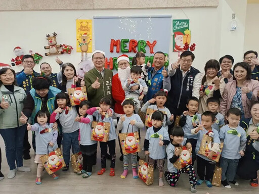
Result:
{"label": "dark-haired man with glasses behind, left of woman in pink jacket", "polygon": [[234,58],[231,55],[225,55],[220,58],[221,71],[218,72],[219,77],[224,77],[225,83],[233,81],[233,71],[232,65],[234,63]]}

